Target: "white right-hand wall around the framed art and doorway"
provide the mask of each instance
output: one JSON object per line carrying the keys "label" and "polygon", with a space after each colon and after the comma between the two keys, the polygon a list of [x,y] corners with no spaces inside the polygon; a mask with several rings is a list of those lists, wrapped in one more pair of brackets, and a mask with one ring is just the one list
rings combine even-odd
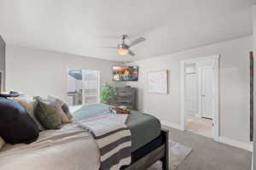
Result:
{"label": "white right-hand wall around the framed art and doorway", "polygon": [[[249,52],[253,37],[241,37],[175,54],[143,59],[139,65],[139,82],[128,85],[138,88],[138,107],[165,122],[180,127],[180,61],[221,54],[219,70],[220,135],[241,142],[249,141]],[[170,71],[170,94],[148,94],[148,71]]]}

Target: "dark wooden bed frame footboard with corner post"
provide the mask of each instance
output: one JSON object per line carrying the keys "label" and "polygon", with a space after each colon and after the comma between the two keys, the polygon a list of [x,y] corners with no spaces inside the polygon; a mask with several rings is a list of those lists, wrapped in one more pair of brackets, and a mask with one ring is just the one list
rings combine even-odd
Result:
{"label": "dark wooden bed frame footboard with corner post", "polygon": [[141,159],[131,163],[125,170],[146,170],[148,167],[152,166],[156,161],[162,161],[162,169],[169,169],[169,131],[166,129],[161,130],[161,134],[165,140],[164,144],[161,144],[155,150],[149,152],[147,155],[143,156]]}

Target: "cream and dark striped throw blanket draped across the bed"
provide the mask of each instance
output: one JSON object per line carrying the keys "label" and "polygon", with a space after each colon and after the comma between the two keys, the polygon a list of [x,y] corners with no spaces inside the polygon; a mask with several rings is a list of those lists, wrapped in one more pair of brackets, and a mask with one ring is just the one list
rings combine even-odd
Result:
{"label": "cream and dark striped throw blanket draped across the bed", "polygon": [[107,114],[79,122],[96,139],[101,153],[101,170],[119,170],[131,163],[131,132],[127,115]]}

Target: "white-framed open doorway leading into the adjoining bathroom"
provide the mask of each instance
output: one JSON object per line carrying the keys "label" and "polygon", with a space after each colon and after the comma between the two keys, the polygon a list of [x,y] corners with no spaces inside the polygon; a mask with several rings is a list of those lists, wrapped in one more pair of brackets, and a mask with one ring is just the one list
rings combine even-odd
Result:
{"label": "white-framed open doorway leading into the adjoining bathroom", "polygon": [[219,55],[181,62],[182,129],[218,141]]}

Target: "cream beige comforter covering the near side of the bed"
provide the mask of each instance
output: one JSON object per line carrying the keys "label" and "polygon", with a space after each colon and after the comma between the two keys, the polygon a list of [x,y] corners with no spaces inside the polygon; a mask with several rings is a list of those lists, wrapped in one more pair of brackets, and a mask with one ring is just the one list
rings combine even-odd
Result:
{"label": "cream beige comforter covering the near side of the bed", "polygon": [[6,144],[1,170],[98,170],[100,153],[90,133],[69,124],[46,130],[32,144]]}

